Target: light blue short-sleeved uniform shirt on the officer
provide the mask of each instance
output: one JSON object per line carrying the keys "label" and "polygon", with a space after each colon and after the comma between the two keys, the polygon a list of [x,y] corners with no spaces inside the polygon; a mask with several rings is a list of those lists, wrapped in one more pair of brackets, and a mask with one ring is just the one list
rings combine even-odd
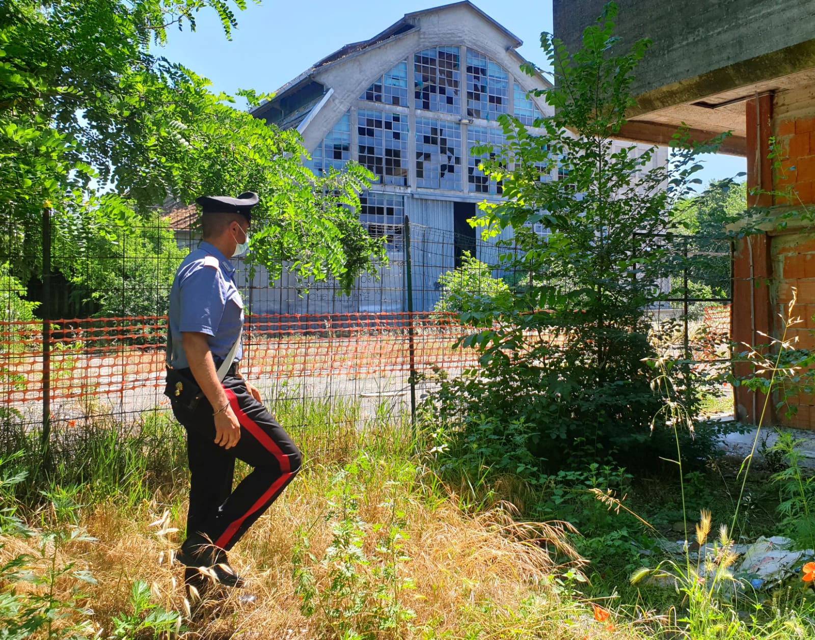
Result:
{"label": "light blue short-sleeved uniform shirt on the officer", "polygon": [[[182,346],[183,332],[205,333],[216,366],[235,344],[244,324],[244,303],[235,285],[235,267],[209,242],[184,258],[170,289],[170,333],[174,369],[189,367]],[[235,362],[244,355],[238,346]]]}

